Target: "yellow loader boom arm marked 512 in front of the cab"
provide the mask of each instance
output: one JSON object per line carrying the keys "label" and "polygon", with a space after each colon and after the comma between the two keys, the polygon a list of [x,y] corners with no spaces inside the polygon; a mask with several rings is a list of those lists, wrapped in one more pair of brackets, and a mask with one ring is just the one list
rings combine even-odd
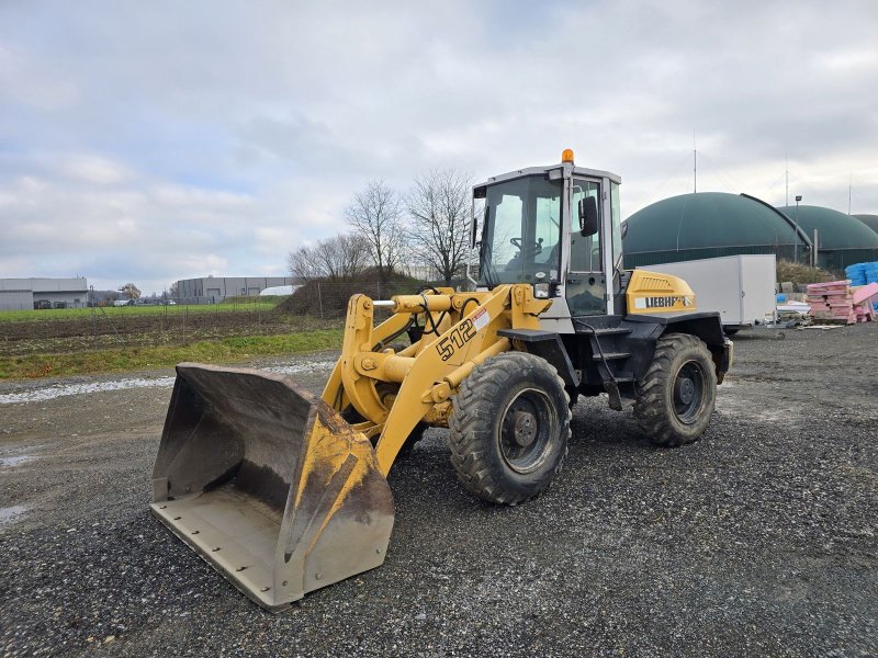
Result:
{"label": "yellow loader boom arm marked 512 in front of the cab", "polygon": [[[491,292],[399,295],[391,317],[374,327],[374,303],[354,295],[348,304],[341,356],[323,399],[341,411],[348,404],[365,419],[354,428],[375,440],[379,469],[390,472],[418,422],[444,426],[449,398],[472,368],[510,348],[500,329],[537,329],[549,302],[530,285]],[[387,337],[421,316],[425,332],[401,351],[381,349]],[[376,351],[378,348],[378,351]],[[392,394],[382,396],[382,389]]]}

